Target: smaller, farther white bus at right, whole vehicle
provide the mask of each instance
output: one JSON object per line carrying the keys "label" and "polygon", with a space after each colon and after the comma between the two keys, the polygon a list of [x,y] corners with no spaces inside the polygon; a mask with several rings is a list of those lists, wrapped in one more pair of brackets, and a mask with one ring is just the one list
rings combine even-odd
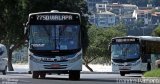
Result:
{"label": "smaller, farther white bus at right, whole vehicle", "polygon": [[121,76],[142,73],[154,69],[155,61],[160,59],[160,37],[115,37],[110,51],[113,72],[120,72]]}

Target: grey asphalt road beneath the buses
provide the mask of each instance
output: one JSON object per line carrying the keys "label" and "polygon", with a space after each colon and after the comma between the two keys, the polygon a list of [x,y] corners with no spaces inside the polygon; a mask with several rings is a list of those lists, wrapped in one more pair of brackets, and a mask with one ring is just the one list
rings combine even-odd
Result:
{"label": "grey asphalt road beneath the buses", "polygon": [[[140,84],[132,79],[140,79],[142,75],[131,74],[124,77],[119,74],[83,73],[79,81],[68,80],[68,75],[47,75],[45,79],[32,79],[31,74],[0,75],[0,84]],[[143,83],[144,84],[144,83]]]}

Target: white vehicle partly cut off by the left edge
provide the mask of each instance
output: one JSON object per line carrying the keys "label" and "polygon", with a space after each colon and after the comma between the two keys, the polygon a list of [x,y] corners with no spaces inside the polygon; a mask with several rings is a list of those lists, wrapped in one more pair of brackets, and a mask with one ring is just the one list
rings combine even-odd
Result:
{"label": "white vehicle partly cut off by the left edge", "polygon": [[7,49],[3,44],[0,44],[0,71],[3,75],[6,75],[8,61],[7,57]]}

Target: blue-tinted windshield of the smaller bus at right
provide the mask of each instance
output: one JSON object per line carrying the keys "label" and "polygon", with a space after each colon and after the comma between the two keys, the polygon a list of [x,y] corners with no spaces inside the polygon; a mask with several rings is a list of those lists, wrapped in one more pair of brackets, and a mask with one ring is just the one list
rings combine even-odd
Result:
{"label": "blue-tinted windshield of the smaller bus at right", "polygon": [[135,59],[139,58],[139,44],[113,44],[111,56],[113,59]]}

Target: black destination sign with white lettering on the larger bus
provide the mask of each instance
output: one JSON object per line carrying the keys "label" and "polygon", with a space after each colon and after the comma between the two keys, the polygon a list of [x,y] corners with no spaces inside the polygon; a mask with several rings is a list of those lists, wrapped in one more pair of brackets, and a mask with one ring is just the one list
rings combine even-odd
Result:
{"label": "black destination sign with white lettering on the larger bus", "polygon": [[78,14],[32,14],[29,17],[29,24],[80,24],[80,16]]}

